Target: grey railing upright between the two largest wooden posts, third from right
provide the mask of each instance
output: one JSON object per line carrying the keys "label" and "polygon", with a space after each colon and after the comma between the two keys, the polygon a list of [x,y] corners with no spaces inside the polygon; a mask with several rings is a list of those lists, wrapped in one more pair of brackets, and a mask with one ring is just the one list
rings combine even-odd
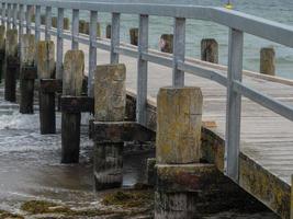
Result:
{"label": "grey railing upright between the two largest wooden posts, third from right", "polygon": [[143,60],[143,53],[148,49],[148,15],[139,15],[138,30],[138,60],[137,60],[137,100],[136,119],[139,124],[146,125],[147,106],[147,61]]}

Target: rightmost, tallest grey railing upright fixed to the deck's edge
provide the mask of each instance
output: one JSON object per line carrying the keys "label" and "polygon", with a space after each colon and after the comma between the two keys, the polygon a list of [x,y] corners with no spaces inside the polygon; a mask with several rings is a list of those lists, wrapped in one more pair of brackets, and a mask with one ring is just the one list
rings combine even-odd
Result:
{"label": "rightmost, tallest grey railing upright fixed to the deck's edge", "polygon": [[227,76],[227,115],[226,115],[226,147],[225,174],[234,181],[239,176],[239,147],[241,95],[233,90],[234,81],[243,78],[244,33],[229,30],[228,76]]}

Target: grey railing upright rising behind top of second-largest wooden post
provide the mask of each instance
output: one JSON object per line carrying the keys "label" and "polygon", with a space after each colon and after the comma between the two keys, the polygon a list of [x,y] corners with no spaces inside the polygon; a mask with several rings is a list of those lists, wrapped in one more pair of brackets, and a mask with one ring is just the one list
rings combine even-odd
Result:
{"label": "grey railing upright rising behind top of second-largest wooden post", "polygon": [[110,62],[119,64],[119,54],[115,48],[120,46],[120,13],[112,13],[111,26],[111,55]]}

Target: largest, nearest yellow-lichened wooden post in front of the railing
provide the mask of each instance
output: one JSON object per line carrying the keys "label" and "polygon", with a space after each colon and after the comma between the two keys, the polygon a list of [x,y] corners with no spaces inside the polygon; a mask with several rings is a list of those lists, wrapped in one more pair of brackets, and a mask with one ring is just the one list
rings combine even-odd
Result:
{"label": "largest, nearest yellow-lichened wooden post in front of the railing", "polygon": [[[196,218],[194,194],[182,186],[193,182],[201,158],[203,97],[201,89],[161,88],[157,97],[157,187],[155,218]],[[201,171],[200,171],[201,173]],[[200,175],[200,174],[199,174]],[[183,178],[184,177],[184,178]],[[182,181],[177,181],[181,178]],[[201,178],[195,177],[201,181]],[[198,182],[193,182],[194,188]]]}

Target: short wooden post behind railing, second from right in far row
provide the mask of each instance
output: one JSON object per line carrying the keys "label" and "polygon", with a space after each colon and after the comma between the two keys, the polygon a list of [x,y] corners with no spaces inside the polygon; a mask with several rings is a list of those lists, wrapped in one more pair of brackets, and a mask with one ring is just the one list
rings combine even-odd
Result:
{"label": "short wooden post behind railing, second from right in far row", "polygon": [[203,38],[201,42],[201,58],[203,61],[218,64],[218,45],[214,38]]}

